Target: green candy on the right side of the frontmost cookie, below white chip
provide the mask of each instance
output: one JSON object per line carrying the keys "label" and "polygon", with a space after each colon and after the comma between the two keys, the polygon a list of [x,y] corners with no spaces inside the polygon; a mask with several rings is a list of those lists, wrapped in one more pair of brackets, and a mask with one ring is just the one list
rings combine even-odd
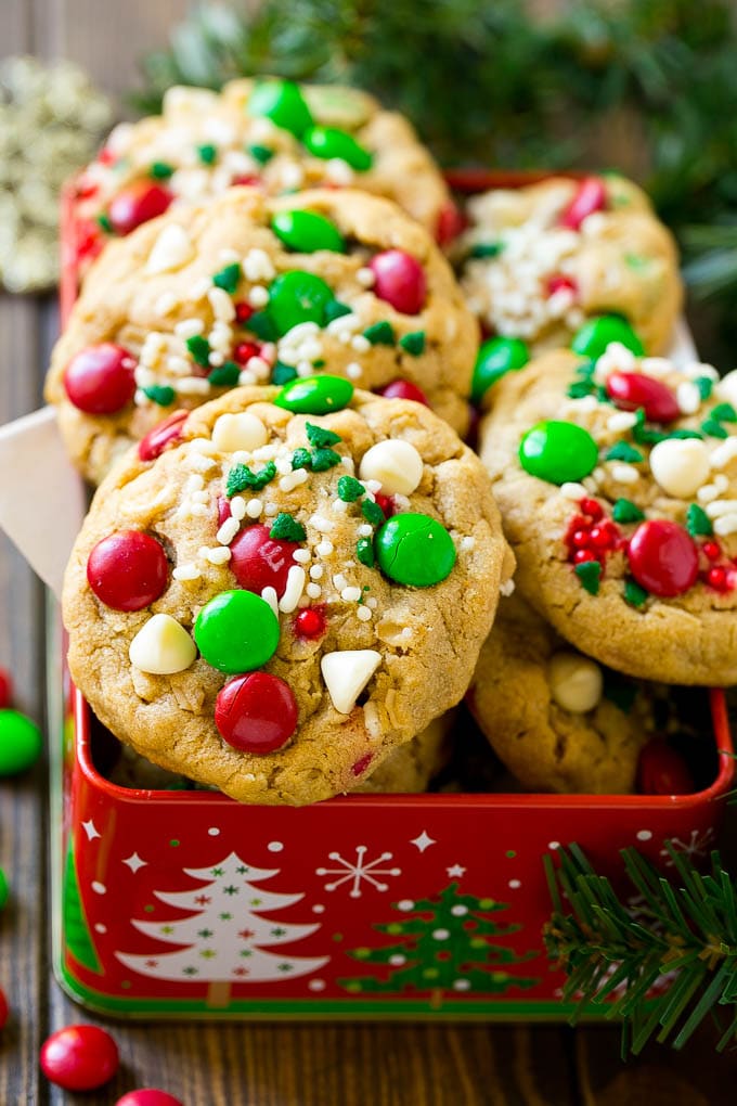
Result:
{"label": "green candy on the right side of the frontmost cookie, below white chip", "polygon": [[455,564],[448,530],[429,514],[394,514],[376,535],[376,556],[385,576],[398,584],[432,587]]}

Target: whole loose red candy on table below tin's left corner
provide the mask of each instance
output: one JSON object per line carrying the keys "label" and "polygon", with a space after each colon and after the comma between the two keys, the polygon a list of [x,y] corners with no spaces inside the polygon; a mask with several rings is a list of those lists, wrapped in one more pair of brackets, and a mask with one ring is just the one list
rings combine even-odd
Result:
{"label": "whole loose red candy on table below tin's left corner", "polygon": [[94,1091],[108,1083],[119,1066],[118,1047],[97,1025],[67,1025],[41,1047],[41,1071],[65,1091]]}

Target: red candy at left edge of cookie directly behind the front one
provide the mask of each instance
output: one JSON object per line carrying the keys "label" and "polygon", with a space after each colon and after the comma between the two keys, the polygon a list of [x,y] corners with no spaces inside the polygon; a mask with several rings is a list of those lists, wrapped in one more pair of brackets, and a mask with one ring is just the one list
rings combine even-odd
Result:
{"label": "red candy at left edge of cookie directly behind the front one", "polygon": [[87,346],[64,371],[66,395],[87,415],[114,415],[136,394],[135,369],[135,358],[123,346]]}

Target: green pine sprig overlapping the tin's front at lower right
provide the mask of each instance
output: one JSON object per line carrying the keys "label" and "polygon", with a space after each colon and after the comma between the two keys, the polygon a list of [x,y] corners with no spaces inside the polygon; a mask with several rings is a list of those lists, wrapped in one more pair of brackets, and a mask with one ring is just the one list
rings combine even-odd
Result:
{"label": "green pine sprig overlapping the tin's front at lower right", "polygon": [[[687,855],[665,847],[672,878],[636,849],[622,851],[636,910],[577,845],[558,851],[559,867],[546,856],[548,956],[568,974],[564,999],[577,1003],[573,1022],[591,1013],[624,1019],[623,1054],[639,1054],[653,1036],[681,1048],[707,1015],[722,1051],[737,1035],[737,883],[717,852],[702,875]],[[649,994],[666,973],[670,985]]]}

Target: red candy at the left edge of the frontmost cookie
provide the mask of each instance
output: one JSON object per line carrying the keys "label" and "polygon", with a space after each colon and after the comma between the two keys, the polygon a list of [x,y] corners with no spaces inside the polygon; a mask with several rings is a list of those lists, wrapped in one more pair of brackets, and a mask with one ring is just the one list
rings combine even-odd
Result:
{"label": "red candy at the left edge of the frontmost cookie", "polygon": [[114,611],[141,611],[162,594],[169,562],[156,538],[139,530],[108,534],[87,557],[87,583]]}

